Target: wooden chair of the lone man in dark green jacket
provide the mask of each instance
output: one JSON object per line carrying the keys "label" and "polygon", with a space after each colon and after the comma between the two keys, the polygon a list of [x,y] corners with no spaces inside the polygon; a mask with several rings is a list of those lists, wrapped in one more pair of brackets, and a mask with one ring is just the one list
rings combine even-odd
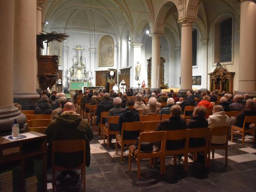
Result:
{"label": "wooden chair of the lone man in dark green jacket", "polygon": [[[83,192],[85,192],[85,140],[56,140],[52,141],[52,174],[53,174],[53,192],[55,192],[55,173],[64,170],[81,169],[81,180],[83,180]],[[54,154],[58,153],[75,153],[83,151],[83,163],[76,168],[65,168],[54,164]],[[74,159],[76,161],[76,159]]]}

